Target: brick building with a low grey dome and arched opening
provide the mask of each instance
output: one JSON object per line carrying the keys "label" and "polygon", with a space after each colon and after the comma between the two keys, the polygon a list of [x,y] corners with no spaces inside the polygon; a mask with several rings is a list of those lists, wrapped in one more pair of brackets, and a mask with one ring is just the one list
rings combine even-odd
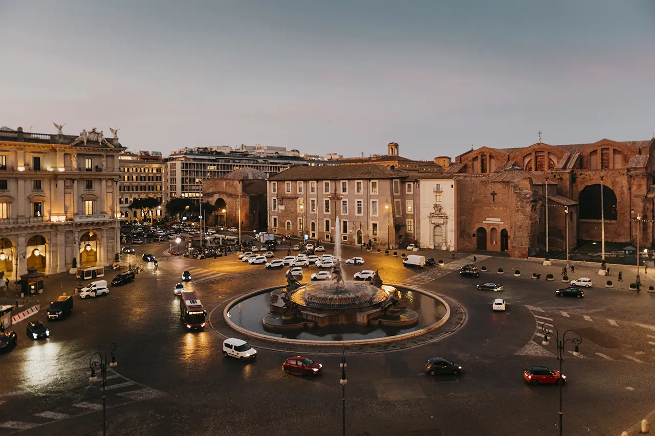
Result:
{"label": "brick building with a low grey dome and arched opening", "polygon": [[267,227],[266,174],[254,168],[242,168],[225,177],[202,182],[202,201],[214,204],[216,211],[207,223],[242,230]]}

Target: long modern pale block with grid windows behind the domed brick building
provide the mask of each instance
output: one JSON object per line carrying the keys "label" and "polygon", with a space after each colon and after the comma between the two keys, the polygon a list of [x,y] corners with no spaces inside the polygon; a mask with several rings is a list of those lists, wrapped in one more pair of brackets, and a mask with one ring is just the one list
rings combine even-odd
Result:
{"label": "long modern pale block with grid windows behind the domed brick building", "polygon": [[181,149],[166,158],[167,198],[185,197],[200,200],[202,182],[225,177],[242,168],[253,168],[267,175],[286,170],[291,165],[307,165],[297,150],[284,147],[198,147]]}

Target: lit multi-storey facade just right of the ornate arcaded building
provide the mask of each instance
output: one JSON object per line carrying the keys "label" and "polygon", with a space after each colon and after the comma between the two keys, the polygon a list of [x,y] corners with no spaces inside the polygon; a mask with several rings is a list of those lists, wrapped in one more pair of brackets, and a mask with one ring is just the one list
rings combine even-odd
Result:
{"label": "lit multi-storey facade just right of the ornate arcaded building", "polygon": [[119,206],[121,218],[130,221],[146,218],[138,209],[130,209],[135,198],[153,197],[161,203],[161,208],[151,211],[148,217],[161,217],[164,208],[164,158],[160,151],[140,151],[119,154]]}

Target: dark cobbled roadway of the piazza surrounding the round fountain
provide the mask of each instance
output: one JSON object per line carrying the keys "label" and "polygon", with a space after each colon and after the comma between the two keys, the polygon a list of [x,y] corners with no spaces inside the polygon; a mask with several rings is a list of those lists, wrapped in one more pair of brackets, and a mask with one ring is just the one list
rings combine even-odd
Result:
{"label": "dark cobbled roadway of the piazza surrounding the round fountain", "polygon": [[[88,360],[109,342],[117,344],[119,363],[108,372],[109,435],[341,434],[340,350],[252,340],[259,350],[252,363],[221,354],[223,335],[240,336],[222,319],[227,301],[286,283],[284,270],[244,264],[234,255],[172,257],[164,252],[168,246],[137,247],[137,259],[145,251],[159,257],[159,271],[150,266],[136,282],[112,287],[108,297],[76,296],[68,319],[49,322],[42,306],[32,319],[47,323],[48,340],[29,341],[25,322],[12,327],[18,347],[0,355],[0,436],[102,434],[102,391],[100,383],[88,382]],[[554,341],[541,345],[544,322],[559,331],[575,329],[583,338],[579,357],[567,344],[563,364],[569,379],[563,388],[565,434],[620,435],[655,409],[654,294],[606,289],[594,270],[578,266],[574,276],[589,276],[595,286],[584,299],[557,299],[562,283],[544,280],[546,272],[559,278],[557,265],[478,256],[477,264],[489,272],[475,279],[456,272],[472,259],[468,254],[458,253],[444,266],[410,270],[400,258],[363,253],[363,267],[345,266],[349,278],[360,269],[379,269],[385,283],[441,295],[454,315],[434,338],[346,348],[346,434],[557,434],[557,387],[529,386],[522,374],[534,365],[557,369]],[[282,257],[286,249],[276,254]],[[345,247],[343,255],[362,251]],[[505,274],[496,274],[498,268]],[[625,269],[626,278],[633,274]],[[186,333],[180,324],[173,287],[183,270],[193,276],[185,287],[212,312],[204,332]],[[533,272],[541,280],[532,280]],[[504,291],[479,291],[475,285],[481,282],[500,282]],[[51,276],[43,297],[72,291],[76,283],[70,276]],[[506,312],[491,310],[496,297],[506,299]],[[282,362],[295,354],[315,357],[324,374],[285,374]],[[425,375],[428,357],[453,359],[464,372]]]}

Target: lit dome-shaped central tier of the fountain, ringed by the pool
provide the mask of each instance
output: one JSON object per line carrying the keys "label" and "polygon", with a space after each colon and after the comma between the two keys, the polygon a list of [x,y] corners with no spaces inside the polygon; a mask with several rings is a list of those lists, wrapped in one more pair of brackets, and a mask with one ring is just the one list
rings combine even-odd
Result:
{"label": "lit dome-shaped central tier of the fountain, ringed by the pool", "polygon": [[387,297],[386,291],[366,282],[346,282],[343,287],[335,282],[320,282],[299,287],[291,301],[310,308],[347,309],[371,306]]}

